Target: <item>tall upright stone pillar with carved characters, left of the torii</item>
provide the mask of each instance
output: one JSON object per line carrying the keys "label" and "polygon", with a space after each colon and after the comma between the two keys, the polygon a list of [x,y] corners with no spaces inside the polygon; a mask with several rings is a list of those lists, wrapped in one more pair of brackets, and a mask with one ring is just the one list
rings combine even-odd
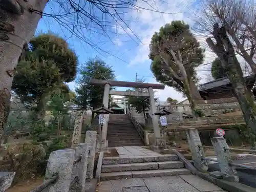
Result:
{"label": "tall upright stone pillar with carved characters, left of the torii", "polygon": [[72,144],[71,147],[76,147],[81,143],[81,134],[82,134],[82,123],[83,123],[83,112],[79,111],[76,113],[75,126],[73,130]]}

